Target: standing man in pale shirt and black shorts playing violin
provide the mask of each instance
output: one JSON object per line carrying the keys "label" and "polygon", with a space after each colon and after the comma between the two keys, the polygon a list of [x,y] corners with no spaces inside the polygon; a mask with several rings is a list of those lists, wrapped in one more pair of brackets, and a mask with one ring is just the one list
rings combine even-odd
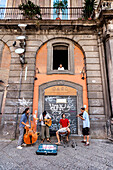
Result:
{"label": "standing man in pale shirt and black shorts playing violin", "polygon": [[[82,113],[78,114],[77,117],[80,117],[83,120],[82,132],[83,132],[84,140],[82,142],[85,143],[85,146],[88,146],[89,145],[89,128],[90,128],[89,115],[85,111],[85,108],[81,108],[81,112]],[[86,141],[86,138],[87,138],[87,141]]]}

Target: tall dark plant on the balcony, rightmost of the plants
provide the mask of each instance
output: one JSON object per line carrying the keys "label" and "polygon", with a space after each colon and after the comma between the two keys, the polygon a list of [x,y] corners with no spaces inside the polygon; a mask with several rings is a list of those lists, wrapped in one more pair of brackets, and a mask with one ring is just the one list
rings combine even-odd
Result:
{"label": "tall dark plant on the balcony, rightmost of the plants", "polygon": [[85,19],[91,20],[94,17],[96,4],[95,0],[85,0],[83,9],[83,17]]}

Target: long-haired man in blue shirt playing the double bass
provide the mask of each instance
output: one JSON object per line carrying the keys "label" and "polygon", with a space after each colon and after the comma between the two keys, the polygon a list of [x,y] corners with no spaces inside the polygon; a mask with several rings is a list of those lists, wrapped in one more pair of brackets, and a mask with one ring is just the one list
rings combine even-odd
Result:
{"label": "long-haired man in blue shirt playing the double bass", "polygon": [[26,108],[21,116],[21,119],[20,119],[20,125],[19,125],[20,135],[19,135],[19,139],[18,139],[17,149],[22,149],[22,145],[24,145],[23,144],[24,127],[25,126],[29,127],[29,125],[26,124],[26,122],[28,120],[28,115],[29,115],[29,108]]}

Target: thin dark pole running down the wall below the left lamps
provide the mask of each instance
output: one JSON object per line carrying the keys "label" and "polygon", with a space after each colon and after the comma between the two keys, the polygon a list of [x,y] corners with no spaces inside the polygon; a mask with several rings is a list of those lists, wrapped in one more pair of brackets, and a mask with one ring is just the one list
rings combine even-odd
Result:
{"label": "thin dark pole running down the wall below the left lamps", "polygon": [[[22,75],[23,75],[23,65],[21,64],[21,72],[20,72],[20,86],[19,86],[19,93],[18,93],[18,101],[20,99],[20,95],[21,95],[21,85],[22,85]],[[15,127],[15,139],[16,139],[16,131],[17,131],[17,125],[18,125],[18,114],[19,114],[19,102],[17,105],[17,115],[16,115],[16,127]]]}

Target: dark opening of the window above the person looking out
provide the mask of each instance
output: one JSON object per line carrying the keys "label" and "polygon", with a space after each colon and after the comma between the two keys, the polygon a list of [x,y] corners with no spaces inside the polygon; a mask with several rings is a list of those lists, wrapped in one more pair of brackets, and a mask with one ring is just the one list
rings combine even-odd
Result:
{"label": "dark opening of the window above the person looking out", "polygon": [[53,48],[53,70],[57,70],[62,64],[65,70],[68,70],[68,47],[55,46]]}

